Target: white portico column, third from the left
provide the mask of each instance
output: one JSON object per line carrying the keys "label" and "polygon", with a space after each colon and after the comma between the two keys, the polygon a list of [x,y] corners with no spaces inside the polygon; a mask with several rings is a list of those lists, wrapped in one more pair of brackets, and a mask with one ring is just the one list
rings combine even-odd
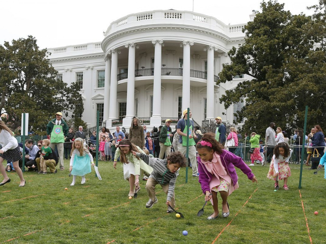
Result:
{"label": "white portico column, third from the left", "polygon": [[127,83],[127,111],[126,117],[123,119],[122,126],[130,127],[134,116],[134,69],[135,69],[135,48],[137,44],[131,42],[125,45],[129,48],[128,55],[128,83]]}

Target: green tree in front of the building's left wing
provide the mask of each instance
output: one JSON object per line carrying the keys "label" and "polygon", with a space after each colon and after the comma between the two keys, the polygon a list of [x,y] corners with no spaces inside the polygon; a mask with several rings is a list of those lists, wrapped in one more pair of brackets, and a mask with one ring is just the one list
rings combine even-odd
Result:
{"label": "green tree in front of the building's left wing", "polygon": [[45,134],[54,114],[68,116],[84,111],[80,88],[76,83],[57,80],[57,71],[49,63],[46,49],[40,50],[37,40],[13,40],[0,45],[0,111],[9,115],[13,129],[21,124],[21,113],[29,113],[29,125],[36,133]]}

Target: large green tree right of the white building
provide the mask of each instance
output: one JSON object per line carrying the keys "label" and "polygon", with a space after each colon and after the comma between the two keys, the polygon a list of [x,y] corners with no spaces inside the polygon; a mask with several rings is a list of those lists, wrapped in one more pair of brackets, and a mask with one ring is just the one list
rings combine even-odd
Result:
{"label": "large green tree right of the white building", "polygon": [[219,83],[240,74],[253,77],[227,90],[220,101],[227,109],[241,97],[246,100],[236,122],[247,118],[247,132],[264,135],[272,121],[283,130],[303,128],[306,105],[308,128],[326,126],[324,50],[314,49],[320,39],[311,30],[311,17],[292,15],[283,7],[277,1],[261,3],[261,13],[244,27],[244,43],[229,51],[231,63],[220,73]]}

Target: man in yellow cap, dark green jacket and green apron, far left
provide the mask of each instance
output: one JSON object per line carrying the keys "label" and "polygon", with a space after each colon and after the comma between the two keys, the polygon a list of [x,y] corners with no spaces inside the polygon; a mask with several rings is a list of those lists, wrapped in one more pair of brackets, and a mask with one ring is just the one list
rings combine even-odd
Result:
{"label": "man in yellow cap, dark green jacket and green apron, far left", "polygon": [[59,159],[60,159],[60,170],[64,170],[63,163],[63,143],[65,142],[65,137],[68,136],[68,125],[65,120],[62,119],[62,113],[56,113],[56,118],[49,121],[46,126],[46,134],[50,136],[49,147],[55,150],[57,146]]}

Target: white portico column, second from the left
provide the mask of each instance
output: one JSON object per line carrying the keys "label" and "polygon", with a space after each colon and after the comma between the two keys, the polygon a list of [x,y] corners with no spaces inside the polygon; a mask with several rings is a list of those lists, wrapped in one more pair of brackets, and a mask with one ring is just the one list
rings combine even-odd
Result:
{"label": "white portico column, second from the left", "polygon": [[110,111],[108,119],[110,120],[109,126],[112,125],[112,119],[117,118],[117,86],[118,86],[118,53],[117,49],[112,49],[108,54],[111,56],[111,86],[110,86]]}

